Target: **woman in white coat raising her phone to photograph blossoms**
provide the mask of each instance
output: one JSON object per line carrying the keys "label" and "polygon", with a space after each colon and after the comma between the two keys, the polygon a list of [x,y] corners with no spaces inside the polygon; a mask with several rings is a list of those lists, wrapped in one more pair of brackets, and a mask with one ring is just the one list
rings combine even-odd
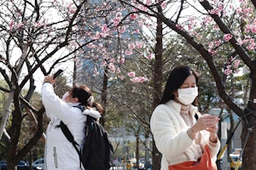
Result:
{"label": "woman in white coat raising her phone to photograph blossoms", "polygon": [[[44,169],[84,169],[78,152],[62,133],[59,125],[61,121],[64,122],[81,147],[85,138],[85,115],[100,118],[102,106],[94,102],[90,88],[86,86],[74,87],[60,99],[54,92],[55,81],[53,75],[44,77],[41,88],[46,115],[50,118],[46,131]],[[81,107],[84,109],[82,110]]]}

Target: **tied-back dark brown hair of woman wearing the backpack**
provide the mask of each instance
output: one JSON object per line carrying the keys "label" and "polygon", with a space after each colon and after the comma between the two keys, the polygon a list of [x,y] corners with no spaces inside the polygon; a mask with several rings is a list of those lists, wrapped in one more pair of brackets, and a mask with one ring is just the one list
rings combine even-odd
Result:
{"label": "tied-back dark brown hair of woman wearing the backpack", "polygon": [[84,105],[85,107],[94,107],[100,113],[103,112],[102,105],[96,102],[93,102],[93,104],[90,105],[90,103],[88,102],[88,99],[90,98],[90,96],[92,96],[92,93],[90,91],[90,88],[88,88],[87,86],[85,85],[82,85],[79,87],[75,86],[70,90],[70,92],[73,98],[79,99],[79,102],[81,103],[81,105]]}

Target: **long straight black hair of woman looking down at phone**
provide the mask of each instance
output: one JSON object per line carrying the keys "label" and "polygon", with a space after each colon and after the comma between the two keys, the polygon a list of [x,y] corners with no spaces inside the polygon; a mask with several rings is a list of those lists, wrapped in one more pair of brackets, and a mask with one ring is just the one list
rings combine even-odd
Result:
{"label": "long straight black hair of woman looking down at phone", "polygon": [[170,99],[174,99],[173,93],[183,84],[185,79],[192,74],[195,76],[195,81],[197,85],[199,80],[199,74],[194,69],[191,69],[187,65],[179,65],[175,67],[171,71],[167,79],[166,88],[164,90],[162,98],[160,99],[160,104],[165,104]]}

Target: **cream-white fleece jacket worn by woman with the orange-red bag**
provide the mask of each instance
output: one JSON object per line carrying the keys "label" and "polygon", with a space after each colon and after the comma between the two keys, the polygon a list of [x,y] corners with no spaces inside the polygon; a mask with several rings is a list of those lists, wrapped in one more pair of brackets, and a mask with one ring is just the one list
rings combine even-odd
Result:
{"label": "cream-white fleece jacket worn by woman with the orange-red bag", "polygon": [[[195,140],[189,138],[187,130],[189,127],[180,116],[181,105],[174,100],[165,105],[158,105],[150,120],[150,128],[154,135],[157,149],[162,154],[161,170],[168,170],[168,165],[174,165],[183,161],[196,161],[201,157],[201,150],[195,144]],[[191,105],[189,113],[195,120],[197,107]],[[210,144],[211,143],[211,144]],[[209,145],[212,157],[217,156],[220,143],[213,144],[209,140],[209,133],[201,131],[201,148]]]}

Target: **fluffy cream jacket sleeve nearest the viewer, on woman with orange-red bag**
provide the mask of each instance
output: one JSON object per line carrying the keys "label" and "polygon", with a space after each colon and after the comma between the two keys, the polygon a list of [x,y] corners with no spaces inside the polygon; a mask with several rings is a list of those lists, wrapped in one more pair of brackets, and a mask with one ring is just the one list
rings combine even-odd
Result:
{"label": "fluffy cream jacket sleeve nearest the viewer, on woman with orange-red bag", "polygon": [[150,120],[150,128],[154,135],[157,149],[166,157],[179,156],[189,148],[193,139],[187,133],[188,129],[181,129],[174,113],[165,105],[159,105]]}

